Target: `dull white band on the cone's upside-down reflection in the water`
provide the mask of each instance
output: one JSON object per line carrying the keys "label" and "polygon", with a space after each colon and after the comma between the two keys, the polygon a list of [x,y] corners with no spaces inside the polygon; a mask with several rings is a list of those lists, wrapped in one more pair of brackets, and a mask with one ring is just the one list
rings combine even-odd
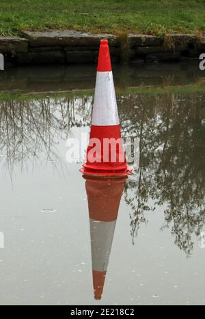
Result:
{"label": "dull white band on the cone's upside-down reflection in the water", "polygon": [[92,269],[106,271],[113,242],[116,220],[102,222],[90,218]]}

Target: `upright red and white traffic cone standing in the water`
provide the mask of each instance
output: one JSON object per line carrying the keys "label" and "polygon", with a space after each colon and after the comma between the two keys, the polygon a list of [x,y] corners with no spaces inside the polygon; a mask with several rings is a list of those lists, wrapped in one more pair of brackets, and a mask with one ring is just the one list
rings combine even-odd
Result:
{"label": "upright red and white traffic cone standing in the water", "polygon": [[100,40],[90,142],[81,172],[87,175],[131,174],[120,133],[107,40]]}

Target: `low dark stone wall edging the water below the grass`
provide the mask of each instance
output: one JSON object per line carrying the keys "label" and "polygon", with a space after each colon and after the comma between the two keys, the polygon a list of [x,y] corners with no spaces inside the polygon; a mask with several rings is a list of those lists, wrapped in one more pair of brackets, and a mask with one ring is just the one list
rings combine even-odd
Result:
{"label": "low dark stone wall edging the water below the grass", "polygon": [[113,62],[198,60],[205,53],[205,36],[167,34],[164,37],[128,34],[90,34],[80,31],[23,31],[19,37],[0,37],[0,53],[14,64],[83,64],[96,62],[101,38],[109,40]]}

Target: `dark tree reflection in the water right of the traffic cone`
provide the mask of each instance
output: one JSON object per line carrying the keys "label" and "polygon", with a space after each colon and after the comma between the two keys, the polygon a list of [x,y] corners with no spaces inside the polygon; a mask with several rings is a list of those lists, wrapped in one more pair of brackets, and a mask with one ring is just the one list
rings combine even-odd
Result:
{"label": "dark tree reflection in the water right of the traffic cone", "polygon": [[140,142],[139,171],[125,192],[133,209],[132,238],[146,222],[143,212],[151,210],[148,200],[152,199],[156,205],[167,205],[163,227],[172,225],[175,242],[187,255],[193,249],[192,235],[199,235],[205,216],[203,97],[188,97],[131,95],[120,107],[123,132],[128,110],[136,108],[129,127]]}

